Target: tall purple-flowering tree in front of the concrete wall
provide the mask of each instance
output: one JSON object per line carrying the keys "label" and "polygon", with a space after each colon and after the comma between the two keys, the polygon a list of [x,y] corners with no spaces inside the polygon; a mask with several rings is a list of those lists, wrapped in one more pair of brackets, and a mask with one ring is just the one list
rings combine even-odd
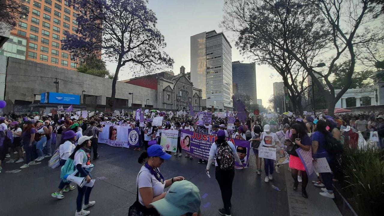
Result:
{"label": "tall purple-flowering tree in front of the concrete wall", "polygon": [[156,28],[157,18],[147,8],[146,0],[72,0],[79,5],[79,35],[66,34],[63,49],[74,56],[98,53],[117,62],[113,82],[111,107],[114,106],[116,82],[122,66],[147,71],[164,69],[174,61],[163,50],[164,36]]}

